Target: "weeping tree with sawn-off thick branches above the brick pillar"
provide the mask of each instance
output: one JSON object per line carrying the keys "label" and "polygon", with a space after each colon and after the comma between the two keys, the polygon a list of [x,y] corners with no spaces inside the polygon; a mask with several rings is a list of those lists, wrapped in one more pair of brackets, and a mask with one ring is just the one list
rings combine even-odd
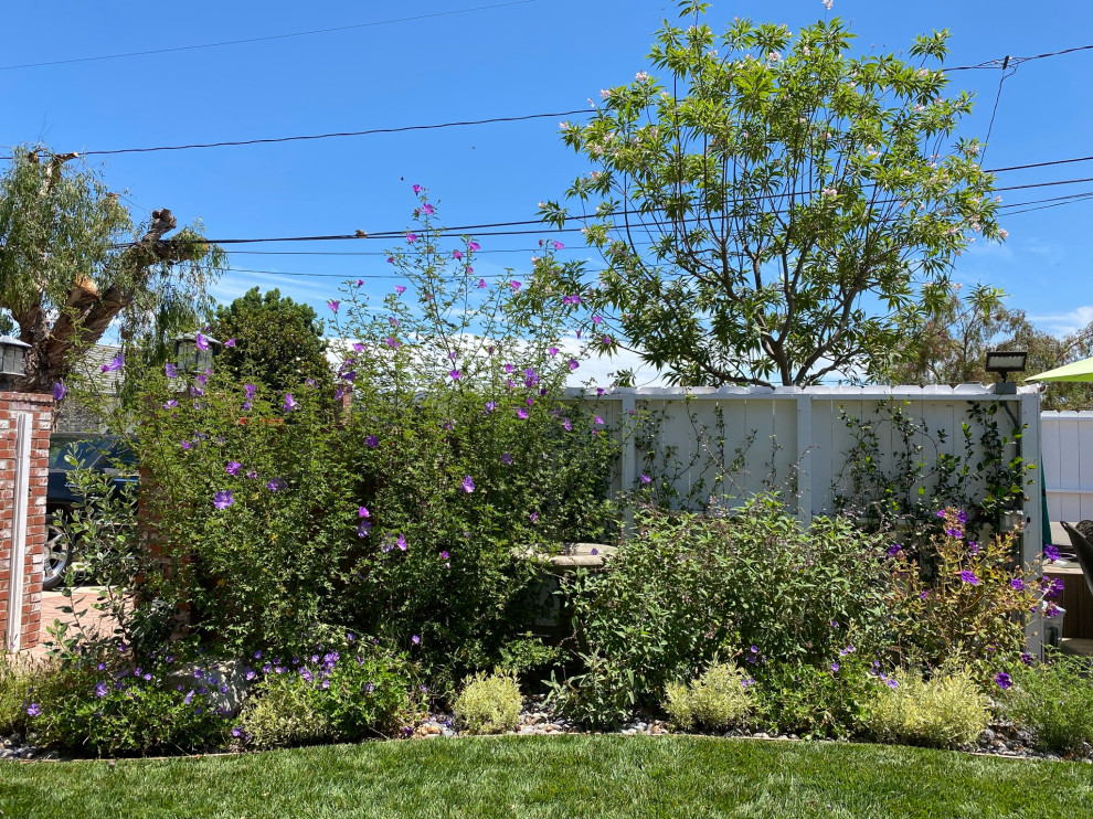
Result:
{"label": "weeping tree with sawn-off thick branches above the brick pillar", "polygon": [[[167,209],[134,223],[77,155],[13,151],[0,176],[0,313],[29,343],[22,392],[50,392],[112,327],[156,358],[208,308],[221,251]],[[137,342],[141,342],[137,344]]]}

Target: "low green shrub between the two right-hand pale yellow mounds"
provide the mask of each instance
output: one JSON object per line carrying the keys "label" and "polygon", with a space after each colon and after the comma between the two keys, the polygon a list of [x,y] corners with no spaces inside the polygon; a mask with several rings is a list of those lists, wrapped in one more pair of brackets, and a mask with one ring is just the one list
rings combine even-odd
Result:
{"label": "low green shrub between the two right-hand pale yellow mounds", "polygon": [[860,733],[873,679],[864,659],[856,651],[842,651],[823,666],[785,663],[757,669],[753,722],[770,733],[805,738],[848,738]]}

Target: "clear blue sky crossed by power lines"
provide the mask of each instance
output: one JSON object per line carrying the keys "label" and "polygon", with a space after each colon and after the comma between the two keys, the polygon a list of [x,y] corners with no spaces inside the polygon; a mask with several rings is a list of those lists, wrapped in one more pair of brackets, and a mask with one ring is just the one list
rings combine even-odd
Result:
{"label": "clear blue sky crossed by power lines", "polygon": [[[76,64],[0,71],[0,145],[43,140],[56,150],[102,150],[396,127],[587,108],[599,88],[648,68],[645,55],[675,3],[647,0],[490,0],[414,4],[197,0],[182,10],[148,3],[31,3],[4,10],[0,66],[210,43],[358,23],[348,31]],[[458,13],[444,13],[458,12]],[[425,17],[425,15],[435,17]],[[1028,56],[1093,42],[1093,3],[915,3],[835,0],[715,2],[710,21],[733,15],[796,30],[838,14],[852,21],[863,51],[900,51],[914,34],[952,31],[949,65]],[[1004,86],[986,164],[1005,167],[1093,155],[1093,51],[1021,65]],[[985,136],[999,71],[953,74],[951,88],[977,95],[968,136]],[[399,230],[413,183],[427,185],[446,224],[533,219],[587,170],[558,138],[554,119],[416,134],[217,148],[106,158],[105,178],[128,190],[138,216],[170,208],[200,217],[211,237],[312,235]],[[1093,162],[1005,173],[1000,185],[1093,177]],[[1006,203],[1093,189],[1093,182],[1004,192]],[[1020,210],[1020,209],[1015,209]],[[959,281],[1011,294],[1051,330],[1093,320],[1087,285],[1093,202],[1014,214],[1009,241],[961,259]],[[567,237],[571,257],[587,257]],[[526,270],[535,237],[481,240],[477,269]],[[386,274],[384,243],[262,245],[247,251],[370,252],[371,256],[233,254],[240,269],[356,277]],[[502,253],[512,251],[512,253]],[[338,278],[232,273],[215,295],[231,300],[254,285],[317,308]],[[393,281],[370,280],[378,294]]]}

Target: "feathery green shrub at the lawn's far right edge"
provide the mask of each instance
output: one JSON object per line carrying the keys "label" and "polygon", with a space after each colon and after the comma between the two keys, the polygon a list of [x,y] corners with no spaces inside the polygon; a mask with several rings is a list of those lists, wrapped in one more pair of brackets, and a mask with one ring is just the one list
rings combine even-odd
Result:
{"label": "feathery green shrub at the lawn's far right edge", "polygon": [[1052,652],[1050,661],[1014,671],[1002,695],[1006,714],[1037,747],[1073,751],[1093,745],[1093,661]]}

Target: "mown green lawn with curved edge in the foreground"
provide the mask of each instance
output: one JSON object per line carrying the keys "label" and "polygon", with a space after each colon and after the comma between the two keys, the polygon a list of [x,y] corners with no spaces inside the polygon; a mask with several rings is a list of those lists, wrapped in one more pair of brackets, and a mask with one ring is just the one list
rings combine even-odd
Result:
{"label": "mown green lawn with curved edge in the foreground", "polygon": [[0,763],[0,817],[1093,817],[1093,767],[877,745],[506,737]]}

